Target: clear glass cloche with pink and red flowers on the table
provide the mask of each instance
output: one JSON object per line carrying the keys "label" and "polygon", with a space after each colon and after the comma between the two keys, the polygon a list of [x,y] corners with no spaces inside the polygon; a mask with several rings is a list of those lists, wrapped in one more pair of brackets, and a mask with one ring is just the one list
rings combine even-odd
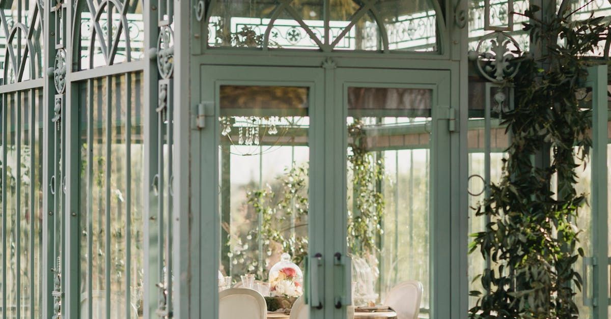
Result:
{"label": "clear glass cloche with pink and red flowers on the table", "polygon": [[291,255],[287,253],[269,270],[269,293],[273,297],[299,297],[304,292],[303,282],[301,269],[291,262]]}

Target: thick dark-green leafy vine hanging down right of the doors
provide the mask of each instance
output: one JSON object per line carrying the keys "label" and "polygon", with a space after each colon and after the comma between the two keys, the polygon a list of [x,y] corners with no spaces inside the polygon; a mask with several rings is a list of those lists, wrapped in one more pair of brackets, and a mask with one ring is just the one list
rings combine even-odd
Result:
{"label": "thick dark-green leafy vine hanging down right of the doors", "polygon": [[[499,183],[477,207],[488,216],[485,230],[472,235],[470,252],[491,261],[476,277],[477,306],[470,318],[577,318],[574,301],[582,278],[576,262],[577,216],[586,205],[577,194],[577,162],[588,160],[591,110],[584,108],[587,67],[609,23],[602,18],[571,21],[576,11],[564,1],[541,21],[531,6],[523,13],[532,23],[524,30],[544,48],[540,59],[524,60],[513,85],[516,105],[502,114],[511,136]],[[509,86],[510,83],[507,83]],[[552,150],[549,167],[536,167],[533,156]],[[551,189],[557,177],[557,190]],[[581,225],[583,226],[583,225]]]}

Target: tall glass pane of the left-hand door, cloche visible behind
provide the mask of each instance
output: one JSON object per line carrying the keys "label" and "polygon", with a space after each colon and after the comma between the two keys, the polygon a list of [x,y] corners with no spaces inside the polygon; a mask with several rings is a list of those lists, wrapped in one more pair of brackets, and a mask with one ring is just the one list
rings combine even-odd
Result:
{"label": "tall glass pane of the left-hand door, cloche visible behind", "polygon": [[[257,290],[268,301],[268,310],[290,307],[303,293],[308,94],[307,87],[220,88],[219,290]],[[283,254],[287,260],[278,263]],[[230,296],[221,296],[221,318],[254,311],[235,306]]]}

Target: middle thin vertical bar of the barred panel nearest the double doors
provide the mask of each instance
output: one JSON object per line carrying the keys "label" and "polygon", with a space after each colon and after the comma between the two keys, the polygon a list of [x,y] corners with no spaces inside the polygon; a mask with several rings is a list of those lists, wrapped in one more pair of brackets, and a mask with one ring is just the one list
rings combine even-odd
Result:
{"label": "middle thin vertical bar of the barred panel nearest the double doors", "polygon": [[[110,12],[110,7],[108,8]],[[110,21],[110,20],[109,20]],[[110,28],[109,28],[110,29]],[[111,319],[111,161],[112,161],[112,76],[106,76],[106,167],[104,177],[106,177],[106,226],[104,235],[104,288],[106,290],[106,319]]]}

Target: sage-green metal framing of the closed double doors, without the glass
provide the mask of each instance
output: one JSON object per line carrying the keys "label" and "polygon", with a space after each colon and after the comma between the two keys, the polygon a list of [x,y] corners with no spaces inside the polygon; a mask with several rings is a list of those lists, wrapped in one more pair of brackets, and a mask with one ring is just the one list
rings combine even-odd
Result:
{"label": "sage-green metal framing of the closed double doors, without the glass", "polygon": [[[459,211],[459,202],[452,201],[452,192],[458,193],[450,185],[450,178],[457,175],[453,171],[458,163],[458,154],[451,155],[451,141],[458,141],[458,133],[451,134],[448,119],[441,119],[450,106],[450,71],[429,70],[422,74],[416,70],[389,70],[379,68],[340,68],[332,60],[326,60],[318,68],[295,67],[235,67],[203,65],[200,87],[200,103],[203,105],[206,118],[205,128],[194,134],[201,145],[202,153],[191,158],[198,163],[200,186],[199,207],[202,220],[202,247],[198,251],[206,252],[199,257],[202,278],[216,279],[216,270],[220,257],[220,213],[218,211],[218,143],[219,143],[219,86],[227,85],[265,85],[265,86],[308,86],[310,87],[310,260],[320,253],[323,258],[323,271],[317,272],[318,278],[310,278],[310,287],[318,286],[324,290],[320,303],[323,310],[312,308],[312,318],[342,318],[344,310],[337,310],[333,305],[346,296],[346,289],[351,283],[344,281],[346,268],[338,267],[334,261],[336,253],[345,256],[346,246],[346,153],[347,137],[345,119],[347,110],[347,88],[349,86],[370,87],[406,87],[426,88],[433,92],[433,142],[431,143],[431,263],[434,278],[434,315],[450,317],[452,310],[450,296],[461,295],[461,288],[456,285],[453,290],[447,289],[453,270],[458,269],[459,259],[453,259],[447,251],[452,249],[453,241],[459,238],[459,232],[450,227],[452,211]],[[368,79],[368,81],[354,81]],[[324,88],[324,89],[323,89]],[[208,151],[204,151],[208,150]],[[210,150],[216,150],[210,152]],[[201,156],[201,157],[200,157]],[[334,194],[329,196],[328,194]],[[452,207],[455,208],[452,208]],[[335,213],[329,213],[335,212]],[[195,216],[194,216],[195,217]],[[452,238],[452,234],[454,238]],[[459,240],[459,239],[458,239]],[[210,255],[216,258],[210,258]],[[312,266],[310,266],[311,269]],[[333,283],[330,285],[329,283]],[[326,284],[324,284],[326,283]],[[202,286],[200,304],[207,304],[216,309],[210,299],[216,299],[216,285]],[[309,296],[310,304],[317,303]],[[344,301],[345,303],[345,301]],[[203,308],[206,309],[206,308]],[[205,311],[205,310],[200,310]],[[193,315],[193,313],[191,313]],[[215,314],[211,314],[214,315]]]}

